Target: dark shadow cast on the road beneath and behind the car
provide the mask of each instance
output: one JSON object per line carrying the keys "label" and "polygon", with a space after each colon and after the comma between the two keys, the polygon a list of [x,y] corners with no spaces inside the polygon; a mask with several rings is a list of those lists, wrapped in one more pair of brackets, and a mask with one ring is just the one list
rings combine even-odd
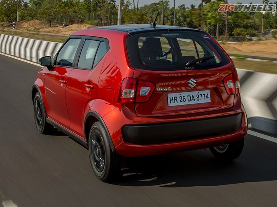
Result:
{"label": "dark shadow cast on the road beneath and behind the car", "polygon": [[210,150],[124,158],[122,186],[192,187],[277,180],[275,143],[251,138],[236,160],[222,162]]}

